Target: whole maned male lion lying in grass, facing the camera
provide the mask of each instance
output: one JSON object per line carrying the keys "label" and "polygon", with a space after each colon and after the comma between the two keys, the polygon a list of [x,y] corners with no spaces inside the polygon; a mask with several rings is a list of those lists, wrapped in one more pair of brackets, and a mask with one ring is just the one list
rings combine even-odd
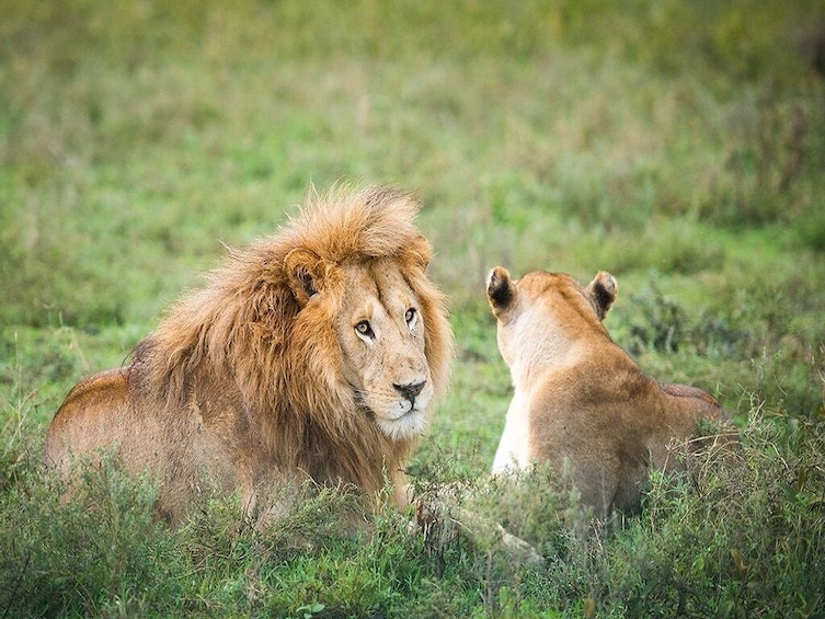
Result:
{"label": "whole maned male lion lying in grass, facing the camera", "polygon": [[374,493],[388,477],[403,503],[452,347],[417,208],[386,187],[311,193],[277,233],[230,250],[130,365],[71,390],[47,466],[114,451],[160,482],[172,521],[213,491],[255,514],[262,489],[301,479]]}

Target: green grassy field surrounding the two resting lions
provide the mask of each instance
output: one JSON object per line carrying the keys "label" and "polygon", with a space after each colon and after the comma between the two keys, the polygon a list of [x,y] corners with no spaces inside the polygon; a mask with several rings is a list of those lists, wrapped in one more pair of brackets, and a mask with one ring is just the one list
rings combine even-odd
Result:
{"label": "green grassy field surrounding the two resting lions", "polygon": [[[0,0],[0,617],[825,616],[825,3]],[[477,486],[495,539],[357,531],[330,491],[276,529],[182,529],[116,470],[55,500],[45,427],[310,184],[424,204],[452,386],[420,490]],[[540,475],[486,481],[511,388],[484,298],[619,280],[643,369],[717,396],[744,466],[653,475],[586,526]],[[95,511],[84,509],[92,502]]]}

